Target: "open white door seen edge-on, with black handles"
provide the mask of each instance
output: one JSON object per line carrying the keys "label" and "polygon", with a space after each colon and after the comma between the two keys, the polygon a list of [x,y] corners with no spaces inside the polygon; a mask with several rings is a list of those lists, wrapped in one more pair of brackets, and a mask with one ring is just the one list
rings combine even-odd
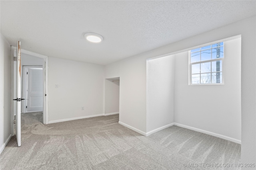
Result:
{"label": "open white door seen edge-on, with black handles", "polygon": [[21,81],[20,81],[20,74],[21,74],[21,48],[20,48],[20,41],[18,41],[17,49],[16,49],[16,138],[18,147],[21,146]]}

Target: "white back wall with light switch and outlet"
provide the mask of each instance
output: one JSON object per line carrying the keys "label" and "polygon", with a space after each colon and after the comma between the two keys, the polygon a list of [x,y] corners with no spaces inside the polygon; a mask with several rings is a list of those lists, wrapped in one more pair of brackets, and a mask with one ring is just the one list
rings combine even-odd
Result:
{"label": "white back wall with light switch and outlet", "polygon": [[49,57],[49,123],[103,114],[103,84],[104,66]]}

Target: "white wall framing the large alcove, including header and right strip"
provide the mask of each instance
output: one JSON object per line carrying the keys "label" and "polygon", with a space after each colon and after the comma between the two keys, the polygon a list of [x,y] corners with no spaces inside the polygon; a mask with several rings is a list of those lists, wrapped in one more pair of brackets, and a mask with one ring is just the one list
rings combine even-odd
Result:
{"label": "white wall framing the large alcove, including header and right strip", "polygon": [[[120,121],[146,132],[146,59],[188,51],[228,37],[242,37],[242,163],[256,162],[256,17],[172,43],[105,67],[105,78],[120,76]],[[186,50],[184,50],[186,49]],[[116,74],[115,74],[116,72]],[[115,74],[113,76],[113,74]],[[119,75],[117,75],[119,74]],[[135,129],[135,130],[136,130]]]}

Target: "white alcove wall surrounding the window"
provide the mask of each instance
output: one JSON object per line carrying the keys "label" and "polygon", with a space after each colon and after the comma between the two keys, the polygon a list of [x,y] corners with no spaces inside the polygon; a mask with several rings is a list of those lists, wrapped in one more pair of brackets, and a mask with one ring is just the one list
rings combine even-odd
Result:
{"label": "white alcove wall surrounding the window", "polygon": [[175,123],[240,141],[241,39],[224,42],[224,85],[188,85],[188,56],[175,58]]}

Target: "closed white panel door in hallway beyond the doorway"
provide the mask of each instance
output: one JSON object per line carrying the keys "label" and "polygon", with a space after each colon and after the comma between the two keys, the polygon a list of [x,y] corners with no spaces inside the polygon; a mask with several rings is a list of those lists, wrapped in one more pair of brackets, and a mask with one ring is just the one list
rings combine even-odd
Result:
{"label": "closed white panel door in hallway beyond the doorway", "polygon": [[27,112],[43,111],[43,69],[28,68]]}

